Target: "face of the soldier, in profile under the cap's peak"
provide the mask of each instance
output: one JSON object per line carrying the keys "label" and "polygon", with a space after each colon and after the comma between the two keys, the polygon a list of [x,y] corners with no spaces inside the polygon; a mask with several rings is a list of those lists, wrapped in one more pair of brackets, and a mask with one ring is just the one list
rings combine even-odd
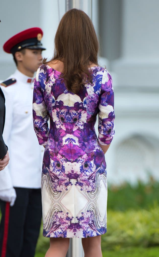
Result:
{"label": "face of the soldier, in profile under the cap's peak", "polygon": [[21,64],[24,69],[35,72],[42,64],[41,49],[25,49],[21,56]]}

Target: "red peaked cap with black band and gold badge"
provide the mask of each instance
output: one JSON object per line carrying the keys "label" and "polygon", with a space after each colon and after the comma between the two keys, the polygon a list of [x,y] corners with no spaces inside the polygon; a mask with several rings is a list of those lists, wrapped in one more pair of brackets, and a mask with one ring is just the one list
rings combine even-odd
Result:
{"label": "red peaked cap with black band and gold badge", "polygon": [[43,31],[38,27],[23,30],[8,39],[4,43],[3,49],[6,53],[12,54],[24,48],[45,50],[46,48],[43,48],[40,42],[42,36]]}

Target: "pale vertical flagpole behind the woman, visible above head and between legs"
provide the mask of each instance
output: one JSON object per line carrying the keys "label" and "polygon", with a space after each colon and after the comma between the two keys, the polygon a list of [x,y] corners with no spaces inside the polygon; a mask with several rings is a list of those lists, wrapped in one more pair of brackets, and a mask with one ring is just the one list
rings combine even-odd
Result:
{"label": "pale vertical flagpole behind the woman, visible above head and between legs", "polygon": [[[92,19],[92,0],[66,0],[66,12],[72,8],[84,11]],[[70,238],[66,257],[84,257],[81,238]]]}

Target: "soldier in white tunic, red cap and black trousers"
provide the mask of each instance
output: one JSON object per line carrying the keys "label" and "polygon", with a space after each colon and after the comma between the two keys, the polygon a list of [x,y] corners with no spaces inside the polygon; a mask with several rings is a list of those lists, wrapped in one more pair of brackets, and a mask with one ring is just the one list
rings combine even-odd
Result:
{"label": "soldier in white tunic, red cap and black trousers", "polygon": [[3,138],[10,163],[0,172],[1,257],[33,257],[39,235],[41,206],[41,147],[33,129],[34,72],[42,64],[40,28],[22,31],[3,46],[17,69],[1,88],[6,99]]}

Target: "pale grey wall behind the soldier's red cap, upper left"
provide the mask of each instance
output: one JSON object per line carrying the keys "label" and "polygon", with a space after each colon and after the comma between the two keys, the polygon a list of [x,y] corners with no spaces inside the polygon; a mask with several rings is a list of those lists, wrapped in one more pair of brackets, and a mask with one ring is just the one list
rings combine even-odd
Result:
{"label": "pale grey wall behind the soldier's red cap, upper left", "polygon": [[36,1],[1,2],[0,6],[0,80],[15,70],[12,54],[3,51],[3,44],[16,33],[40,25],[40,5]]}

